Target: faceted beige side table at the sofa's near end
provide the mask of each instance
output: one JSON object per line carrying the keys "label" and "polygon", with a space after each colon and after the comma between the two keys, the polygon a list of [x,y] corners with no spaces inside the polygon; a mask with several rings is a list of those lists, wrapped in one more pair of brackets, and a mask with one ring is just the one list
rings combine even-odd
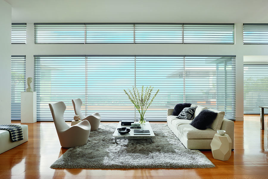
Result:
{"label": "faceted beige side table at the sofa's near end", "polygon": [[228,134],[221,136],[216,133],[211,141],[210,147],[213,158],[226,161],[231,156],[232,140]]}

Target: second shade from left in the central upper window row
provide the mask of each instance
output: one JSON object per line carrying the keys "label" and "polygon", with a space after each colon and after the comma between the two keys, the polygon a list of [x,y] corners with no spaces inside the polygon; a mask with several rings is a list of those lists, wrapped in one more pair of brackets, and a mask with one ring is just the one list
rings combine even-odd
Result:
{"label": "second shade from left in the central upper window row", "polygon": [[133,24],[87,24],[86,43],[134,43]]}

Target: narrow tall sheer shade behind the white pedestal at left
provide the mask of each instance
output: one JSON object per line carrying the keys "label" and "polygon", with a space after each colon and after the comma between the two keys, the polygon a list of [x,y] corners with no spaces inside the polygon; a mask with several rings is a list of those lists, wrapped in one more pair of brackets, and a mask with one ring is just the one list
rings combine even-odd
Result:
{"label": "narrow tall sheer shade behind the white pedestal at left", "polygon": [[25,91],[25,56],[11,56],[11,120],[21,120],[23,91]]}

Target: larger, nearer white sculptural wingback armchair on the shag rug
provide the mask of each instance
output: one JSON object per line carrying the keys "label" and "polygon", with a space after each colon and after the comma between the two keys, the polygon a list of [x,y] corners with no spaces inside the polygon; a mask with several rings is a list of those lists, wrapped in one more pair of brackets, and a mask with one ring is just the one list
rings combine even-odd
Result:
{"label": "larger, nearer white sculptural wingback armchair on the shag rug", "polygon": [[66,110],[64,102],[49,104],[49,108],[62,147],[71,148],[87,143],[91,129],[88,121],[82,121],[70,127],[63,119]]}

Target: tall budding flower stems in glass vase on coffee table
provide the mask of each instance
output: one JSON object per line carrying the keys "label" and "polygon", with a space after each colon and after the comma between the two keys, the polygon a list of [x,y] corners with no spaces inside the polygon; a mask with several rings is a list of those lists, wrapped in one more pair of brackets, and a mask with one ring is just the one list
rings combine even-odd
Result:
{"label": "tall budding flower stems in glass vase on coffee table", "polygon": [[144,119],[144,114],[146,113],[149,106],[152,104],[153,100],[155,99],[155,96],[158,94],[159,89],[156,91],[155,95],[152,97],[151,101],[150,97],[152,94],[154,87],[147,86],[144,91],[144,86],[141,87],[141,93],[139,93],[138,88],[133,86],[132,91],[128,89],[129,94],[126,90],[124,90],[125,94],[128,96],[128,99],[134,104],[135,108],[140,113],[140,123],[144,124],[146,121]]}

